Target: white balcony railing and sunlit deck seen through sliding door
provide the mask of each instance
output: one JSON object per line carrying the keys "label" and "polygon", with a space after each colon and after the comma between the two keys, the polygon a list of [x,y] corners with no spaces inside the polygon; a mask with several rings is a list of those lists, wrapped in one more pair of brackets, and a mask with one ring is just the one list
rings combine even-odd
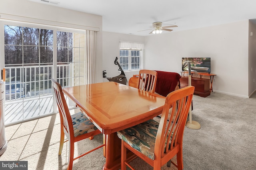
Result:
{"label": "white balcony railing and sunlit deck seen through sliding door", "polygon": [[[62,86],[72,82],[70,66],[57,65],[57,81]],[[5,124],[53,113],[53,65],[10,66],[5,70]]]}

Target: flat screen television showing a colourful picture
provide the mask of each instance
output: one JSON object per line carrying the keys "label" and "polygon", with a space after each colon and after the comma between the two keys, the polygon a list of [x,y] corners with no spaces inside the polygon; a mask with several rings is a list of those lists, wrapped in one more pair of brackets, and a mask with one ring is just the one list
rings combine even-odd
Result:
{"label": "flat screen television showing a colourful picture", "polygon": [[182,71],[188,71],[188,63],[185,61],[192,61],[191,63],[191,71],[197,72],[211,72],[211,58],[196,58],[196,57],[188,57],[182,58]]}

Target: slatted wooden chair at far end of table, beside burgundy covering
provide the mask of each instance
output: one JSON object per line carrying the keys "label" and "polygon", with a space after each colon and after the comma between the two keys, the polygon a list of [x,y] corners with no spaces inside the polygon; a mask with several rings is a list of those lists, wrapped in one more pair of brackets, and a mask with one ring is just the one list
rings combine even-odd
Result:
{"label": "slatted wooden chair at far end of table, beside burgundy covering", "polygon": [[137,88],[154,93],[156,89],[157,72],[154,70],[140,70]]}

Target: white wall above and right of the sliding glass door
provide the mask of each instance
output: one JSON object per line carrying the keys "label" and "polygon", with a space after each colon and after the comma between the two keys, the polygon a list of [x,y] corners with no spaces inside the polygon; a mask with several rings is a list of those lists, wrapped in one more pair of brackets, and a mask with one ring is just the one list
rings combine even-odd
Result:
{"label": "white wall above and right of the sliding glass door", "polygon": [[[50,6],[28,0],[4,0],[0,4],[1,18],[31,23],[44,22],[54,26],[98,29],[97,81],[102,82],[102,16]],[[6,15],[8,14],[8,15]],[[21,17],[20,17],[21,16]],[[74,28],[74,27],[72,27]],[[2,31],[2,28],[1,28]],[[2,41],[2,40],[1,40]]]}

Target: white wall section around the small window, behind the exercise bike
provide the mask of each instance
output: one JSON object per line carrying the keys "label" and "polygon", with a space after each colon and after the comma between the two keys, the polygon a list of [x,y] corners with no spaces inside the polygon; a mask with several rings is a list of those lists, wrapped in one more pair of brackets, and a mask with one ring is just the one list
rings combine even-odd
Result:
{"label": "white wall section around the small window, behind the exercise bike", "polygon": [[[119,52],[119,42],[132,42],[132,43],[144,43],[143,36],[103,32],[103,57],[102,57],[102,71],[106,70],[108,77],[114,77],[120,74],[118,71],[118,66],[114,64],[116,57],[120,56]],[[119,62],[119,60],[118,60]],[[138,71],[125,72],[127,81],[133,74],[138,74]],[[104,82],[108,81],[106,78],[103,79]]]}

